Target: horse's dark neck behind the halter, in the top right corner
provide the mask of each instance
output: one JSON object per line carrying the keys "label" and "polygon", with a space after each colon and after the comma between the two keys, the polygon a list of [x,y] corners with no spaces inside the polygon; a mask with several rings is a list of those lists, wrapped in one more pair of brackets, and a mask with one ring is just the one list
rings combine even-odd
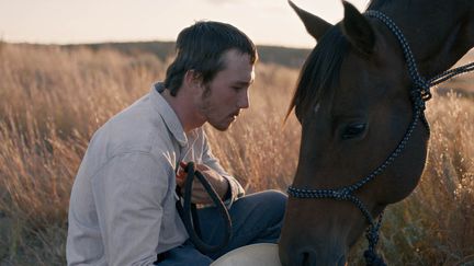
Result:
{"label": "horse's dark neck behind the halter, in the top right corner", "polygon": [[395,0],[372,5],[395,21],[428,79],[452,67],[474,47],[473,0]]}

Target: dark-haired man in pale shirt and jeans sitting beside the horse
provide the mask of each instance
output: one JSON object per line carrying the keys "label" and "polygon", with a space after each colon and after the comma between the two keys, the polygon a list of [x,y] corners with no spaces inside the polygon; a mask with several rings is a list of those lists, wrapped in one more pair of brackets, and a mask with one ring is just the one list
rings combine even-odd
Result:
{"label": "dark-haired man in pale shirt and jeans sitting beside the horse", "polygon": [[[163,83],[111,118],[92,137],[72,186],[68,265],[210,265],[251,243],[275,242],[286,197],[274,190],[244,196],[213,157],[202,126],[226,130],[249,107],[257,53],[236,27],[198,22],[177,39]],[[202,254],[188,240],[177,212],[179,165],[193,161],[229,210],[233,239]],[[192,201],[210,204],[194,184]],[[199,210],[203,239],[219,243],[215,207]]]}

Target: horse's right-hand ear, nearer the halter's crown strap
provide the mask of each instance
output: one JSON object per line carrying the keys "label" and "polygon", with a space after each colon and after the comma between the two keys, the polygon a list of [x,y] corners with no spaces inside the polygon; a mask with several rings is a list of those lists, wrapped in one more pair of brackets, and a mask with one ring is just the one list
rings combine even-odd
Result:
{"label": "horse's right-hand ear, nearer the halter's crown strap", "polygon": [[342,0],[345,19],[342,32],[349,42],[364,55],[371,55],[375,46],[375,33],[369,23],[352,4]]}

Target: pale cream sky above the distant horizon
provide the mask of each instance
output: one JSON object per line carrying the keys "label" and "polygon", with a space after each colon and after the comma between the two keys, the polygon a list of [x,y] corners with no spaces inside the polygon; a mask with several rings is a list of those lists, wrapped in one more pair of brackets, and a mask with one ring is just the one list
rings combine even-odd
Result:
{"label": "pale cream sky above the distant horizon", "polygon": [[[349,0],[363,11],[369,0]],[[340,0],[294,0],[330,23]],[[230,23],[257,45],[312,48],[315,41],[286,0],[0,0],[0,39],[79,44],[174,41],[195,21]]]}

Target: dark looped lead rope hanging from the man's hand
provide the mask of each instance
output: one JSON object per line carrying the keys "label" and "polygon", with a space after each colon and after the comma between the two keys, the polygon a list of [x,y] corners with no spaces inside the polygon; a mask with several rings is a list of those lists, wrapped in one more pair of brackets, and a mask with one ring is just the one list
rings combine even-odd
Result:
{"label": "dark looped lead rope hanging from the man's hand", "polygon": [[[189,162],[184,167],[184,171],[188,173],[188,176],[184,183],[184,195],[182,197],[179,188],[177,187],[177,194],[180,196],[179,200],[176,204],[178,212],[184,223],[191,242],[201,253],[207,254],[218,252],[222,248],[226,247],[230,242],[233,232],[230,216],[214,187],[208,183],[208,181],[201,172],[194,169],[193,162]],[[218,243],[216,245],[210,245],[202,240],[196,207],[194,204],[191,203],[192,183],[194,177],[198,177],[198,180],[204,186],[207,194],[211,196],[215,207],[221,212],[223,221],[225,223],[224,239],[222,243]]]}

